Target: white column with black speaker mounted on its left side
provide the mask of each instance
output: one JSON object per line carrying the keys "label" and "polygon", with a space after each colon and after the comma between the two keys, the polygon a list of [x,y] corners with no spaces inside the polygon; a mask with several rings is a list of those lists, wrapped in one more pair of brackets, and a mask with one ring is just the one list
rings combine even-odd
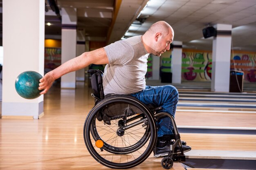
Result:
{"label": "white column with black speaker mounted on its left side", "polygon": [[231,25],[216,24],[217,36],[213,37],[211,91],[229,92]]}

